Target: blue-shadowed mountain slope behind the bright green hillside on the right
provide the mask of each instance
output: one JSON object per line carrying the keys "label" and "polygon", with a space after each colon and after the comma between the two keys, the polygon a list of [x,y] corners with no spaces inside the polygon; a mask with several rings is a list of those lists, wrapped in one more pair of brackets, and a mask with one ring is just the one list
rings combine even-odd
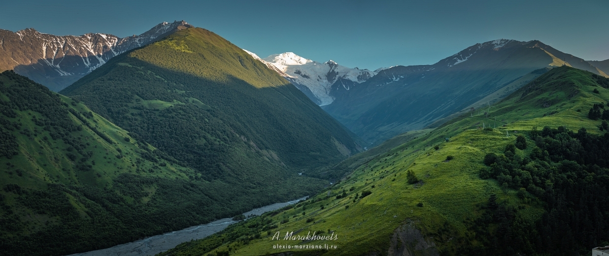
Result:
{"label": "blue-shadowed mountain slope behind the bright green hillside on the right", "polygon": [[536,69],[561,65],[607,76],[540,41],[495,40],[475,44],[434,65],[382,69],[323,108],[364,140],[379,143],[470,108]]}

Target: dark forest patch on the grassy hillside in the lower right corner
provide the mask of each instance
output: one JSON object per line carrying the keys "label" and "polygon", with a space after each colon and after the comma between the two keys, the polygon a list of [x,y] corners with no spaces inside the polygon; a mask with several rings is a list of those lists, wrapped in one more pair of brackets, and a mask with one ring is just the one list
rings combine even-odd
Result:
{"label": "dark forest patch on the grassy hillside in the lower right corner", "polygon": [[[516,140],[519,145],[508,144],[504,154],[487,154],[488,167],[480,177],[496,179],[502,187],[518,190],[524,201],[542,204],[543,217],[534,223],[516,218],[518,209],[493,195],[484,215],[471,227],[485,244],[464,254],[577,255],[607,245],[609,133],[544,127],[531,130],[529,140],[530,145],[522,140]],[[533,147],[531,153],[521,157],[516,151],[527,146]],[[492,224],[498,229],[488,233],[486,227]]]}

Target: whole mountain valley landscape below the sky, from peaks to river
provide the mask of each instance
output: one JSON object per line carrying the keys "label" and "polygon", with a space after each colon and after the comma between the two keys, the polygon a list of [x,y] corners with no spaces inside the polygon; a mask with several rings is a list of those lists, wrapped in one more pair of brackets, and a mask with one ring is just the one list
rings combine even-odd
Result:
{"label": "whole mountain valley landscape below the sky, from peaks to river", "polygon": [[0,41],[0,255],[609,246],[607,60],[499,39],[371,71],[185,21]]}

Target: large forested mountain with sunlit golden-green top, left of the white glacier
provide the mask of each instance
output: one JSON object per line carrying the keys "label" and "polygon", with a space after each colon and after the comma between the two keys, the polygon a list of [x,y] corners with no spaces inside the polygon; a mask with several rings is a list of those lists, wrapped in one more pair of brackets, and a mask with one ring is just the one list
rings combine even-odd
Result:
{"label": "large forested mountain with sunlit golden-green top, left of the white glacier", "polygon": [[225,175],[225,155],[216,147],[230,151],[241,140],[272,162],[297,169],[359,150],[340,124],[300,91],[208,30],[181,30],[108,64],[62,93],[199,169],[206,179]]}

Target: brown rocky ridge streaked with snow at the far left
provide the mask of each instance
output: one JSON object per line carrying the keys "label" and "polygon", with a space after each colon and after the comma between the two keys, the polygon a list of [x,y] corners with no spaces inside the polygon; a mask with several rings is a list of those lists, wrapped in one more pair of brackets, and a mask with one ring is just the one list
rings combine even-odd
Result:
{"label": "brown rocky ridge streaked with snow at the far left", "polygon": [[186,27],[192,26],[185,21],[164,22],[144,34],[125,38],[100,33],[57,36],[35,29],[0,29],[0,70],[15,69],[16,73],[59,91],[112,57]]}

